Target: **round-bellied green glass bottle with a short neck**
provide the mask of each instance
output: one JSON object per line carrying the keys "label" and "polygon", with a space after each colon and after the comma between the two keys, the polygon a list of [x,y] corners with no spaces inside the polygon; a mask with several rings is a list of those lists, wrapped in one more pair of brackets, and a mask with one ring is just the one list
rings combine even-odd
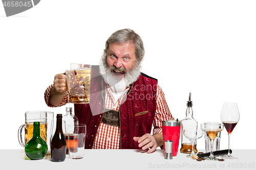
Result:
{"label": "round-bellied green glass bottle with a short neck", "polygon": [[33,137],[26,143],[25,153],[32,159],[42,159],[47,153],[47,142],[40,137],[40,122],[34,122]]}

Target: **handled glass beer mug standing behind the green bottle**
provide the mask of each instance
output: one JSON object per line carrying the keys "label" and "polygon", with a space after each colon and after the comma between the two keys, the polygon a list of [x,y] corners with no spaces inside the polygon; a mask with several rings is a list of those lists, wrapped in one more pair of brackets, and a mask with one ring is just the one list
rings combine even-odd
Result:
{"label": "handled glass beer mug standing behind the green bottle", "polygon": [[[25,147],[26,143],[33,137],[34,122],[40,122],[40,137],[47,142],[47,112],[28,111],[25,113],[25,124],[18,129],[18,141],[22,147]],[[22,139],[23,128],[25,128],[25,142]]]}

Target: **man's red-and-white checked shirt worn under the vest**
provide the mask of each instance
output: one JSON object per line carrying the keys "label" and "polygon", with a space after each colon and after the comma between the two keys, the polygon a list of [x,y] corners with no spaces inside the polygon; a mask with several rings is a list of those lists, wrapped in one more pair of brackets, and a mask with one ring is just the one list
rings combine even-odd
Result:
{"label": "man's red-and-white checked shirt worn under the vest", "polygon": [[[54,85],[50,85],[45,92],[45,101],[49,107],[59,107],[68,103],[68,95],[63,98],[62,102],[57,106],[48,104],[51,89]],[[126,92],[129,90],[127,87],[119,99],[115,101],[113,91],[109,87],[105,88],[105,108],[119,111],[120,101],[124,98]],[[153,121],[153,134],[162,133],[162,120],[174,119],[166,104],[164,93],[159,85],[157,85],[157,106],[156,114]],[[95,137],[93,149],[119,149],[120,148],[120,128],[116,126],[105,125],[100,123],[97,135]],[[139,136],[136,136],[139,137]]]}

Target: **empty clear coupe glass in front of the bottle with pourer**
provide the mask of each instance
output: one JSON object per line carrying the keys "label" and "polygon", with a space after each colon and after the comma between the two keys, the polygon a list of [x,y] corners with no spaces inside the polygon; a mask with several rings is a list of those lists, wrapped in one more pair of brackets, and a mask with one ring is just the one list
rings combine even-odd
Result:
{"label": "empty clear coupe glass in front of the bottle with pourer", "polygon": [[191,154],[187,155],[187,157],[191,158],[192,155],[195,155],[194,145],[197,139],[203,136],[203,131],[201,129],[184,129],[184,136],[186,136],[192,143],[192,151]]}

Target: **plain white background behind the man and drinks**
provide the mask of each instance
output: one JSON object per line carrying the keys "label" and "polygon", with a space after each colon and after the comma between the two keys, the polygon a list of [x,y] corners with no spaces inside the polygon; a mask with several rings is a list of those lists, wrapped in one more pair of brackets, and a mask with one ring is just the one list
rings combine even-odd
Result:
{"label": "plain white background behind the man and drinks", "polygon": [[[158,79],[175,119],[185,117],[189,92],[199,125],[220,122],[223,102],[237,102],[231,149],[255,149],[255,9],[256,1],[42,0],[6,17],[0,5],[0,149],[22,149],[26,111],[65,114],[73,105],[47,107],[45,89],[70,63],[98,64],[105,40],[123,28],[141,36],[142,71]],[[221,149],[227,141],[224,129]]]}

